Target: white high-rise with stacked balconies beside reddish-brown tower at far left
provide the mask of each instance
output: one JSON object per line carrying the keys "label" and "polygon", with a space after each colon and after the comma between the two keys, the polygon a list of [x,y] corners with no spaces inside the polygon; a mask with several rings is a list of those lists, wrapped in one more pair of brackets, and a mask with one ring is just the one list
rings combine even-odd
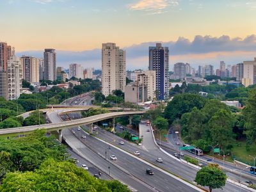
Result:
{"label": "white high-rise with stacked balconies beside reddish-brown tower at far left", "polygon": [[11,56],[7,61],[7,99],[14,100],[20,97],[22,88],[22,69],[20,58]]}

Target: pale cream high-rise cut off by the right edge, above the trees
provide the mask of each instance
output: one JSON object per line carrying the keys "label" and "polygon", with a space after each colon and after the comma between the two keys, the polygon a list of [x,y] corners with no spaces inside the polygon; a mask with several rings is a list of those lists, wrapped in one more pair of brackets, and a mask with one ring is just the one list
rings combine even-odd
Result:
{"label": "pale cream high-rise cut off by the right edge, above the trees", "polygon": [[244,86],[256,84],[256,58],[254,58],[254,61],[244,61],[243,64],[244,73],[242,84]]}

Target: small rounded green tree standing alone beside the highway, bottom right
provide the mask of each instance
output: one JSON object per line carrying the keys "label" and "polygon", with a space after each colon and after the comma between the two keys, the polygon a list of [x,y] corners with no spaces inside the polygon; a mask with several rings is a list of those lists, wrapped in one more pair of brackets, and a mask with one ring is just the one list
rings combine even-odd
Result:
{"label": "small rounded green tree standing alone beside the highway, bottom right", "polygon": [[196,173],[195,181],[200,186],[209,186],[209,191],[225,186],[227,175],[214,166],[205,166]]}

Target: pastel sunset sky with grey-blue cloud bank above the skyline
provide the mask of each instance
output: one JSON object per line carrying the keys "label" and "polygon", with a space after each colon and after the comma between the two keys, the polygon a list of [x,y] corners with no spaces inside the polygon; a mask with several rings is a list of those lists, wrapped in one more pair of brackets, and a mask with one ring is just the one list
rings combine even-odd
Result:
{"label": "pastel sunset sky with grey-blue cloud bank above the skyline", "polygon": [[192,66],[234,65],[256,57],[256,0],[1,0],[0,41],[18,56],[56,49],[57,66],[100,68],[101,46],[115,42],[127,69],[148,67],[148,46]]}

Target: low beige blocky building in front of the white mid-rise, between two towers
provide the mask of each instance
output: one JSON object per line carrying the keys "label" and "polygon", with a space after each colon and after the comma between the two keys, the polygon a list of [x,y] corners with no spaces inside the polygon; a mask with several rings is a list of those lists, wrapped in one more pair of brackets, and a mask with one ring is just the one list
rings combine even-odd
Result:
{"label": "low beige blocky building in front of the white mid-rise, between two towers", "polygon": [[138,81],[132,82],[125,86],[124,100],[125,102],[140,103],[146,102],[148,99],[147,86]]}

